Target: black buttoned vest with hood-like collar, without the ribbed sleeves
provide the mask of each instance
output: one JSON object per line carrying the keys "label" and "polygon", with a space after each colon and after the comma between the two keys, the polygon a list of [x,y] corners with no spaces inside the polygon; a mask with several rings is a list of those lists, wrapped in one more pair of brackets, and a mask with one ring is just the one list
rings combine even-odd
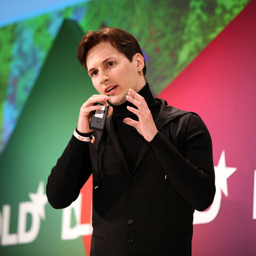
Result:
{"label": "black buttoned vest with hood-like collar, without the ribbed sleeves", "polygon": [[[162,104],[157,129],[183,154],[193,113],[157,100]],[[130,173],[111,117],[105,131],[93,135],[91,255],[191,255],[194,209],[173,187],[150,145],[145,141]]]}

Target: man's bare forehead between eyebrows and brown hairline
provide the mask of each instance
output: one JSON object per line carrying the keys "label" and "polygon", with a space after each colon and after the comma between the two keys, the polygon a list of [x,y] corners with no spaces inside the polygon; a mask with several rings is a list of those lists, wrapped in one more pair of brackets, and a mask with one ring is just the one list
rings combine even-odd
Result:
{"label": "man's bare forehead between eyebrows and brown hairline", "polygon": [[87,53],[86,56],[86,66],[89,70],[94,65],[100,65],[102,61],[106,60],[109,57],[114,58],[126,58],[125,55],[119,52],[113,45],[109,42],[101,42],[92,47]]}

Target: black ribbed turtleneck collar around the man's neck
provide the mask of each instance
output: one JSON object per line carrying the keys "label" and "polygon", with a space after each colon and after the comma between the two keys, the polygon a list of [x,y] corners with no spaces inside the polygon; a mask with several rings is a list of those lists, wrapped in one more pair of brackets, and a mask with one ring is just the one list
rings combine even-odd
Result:
{"label": "black ribbed turtleneck collar around the man's neck", "polygon": [[[138,94],[140,94],[146,100],[150,111],[159,107],[160,104],[158,101],[155,100],[153,94],[151,93],[151,91],[149,89],[148,83],[146,83],[146,85],[142,87],[142,89],[138,92]],[[127,110],[127,106],[135,107],[130,101],[126,100],[124,103],[122,103],[121,105],[118,105],[118,106],[111,105],[110,103],[109,103],[109,105],[111,107],[113,107],[113,117],[115,119],[123,118],[125,116],[128,117],[128,116],[134,115],[133,113],[131,113],[131,111]],[[135,107],[135,108],[137,108],[137,107]]]}

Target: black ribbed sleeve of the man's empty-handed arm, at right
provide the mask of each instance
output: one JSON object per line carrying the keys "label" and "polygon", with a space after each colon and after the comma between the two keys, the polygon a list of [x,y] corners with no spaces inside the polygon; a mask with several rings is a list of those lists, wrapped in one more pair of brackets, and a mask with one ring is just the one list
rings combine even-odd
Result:
{"label": "black ribbed sleeve of the man's empty-handed arm, at right", "polygon": [[215,194],[212,142],[202,119],[191,115],[181,153],[161,132],[149,142],[178,193],[198,211],[207,209]]}

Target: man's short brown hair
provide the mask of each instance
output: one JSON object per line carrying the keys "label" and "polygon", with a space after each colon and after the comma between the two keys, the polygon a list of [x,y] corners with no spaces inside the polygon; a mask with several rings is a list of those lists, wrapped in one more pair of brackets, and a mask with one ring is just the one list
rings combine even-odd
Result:
{"label": "man's short brown hair", "polygon": [[[86,55],[93,46],[101,43],[109,42],[111,45],[116,47],[116,49],[123,53],[126,58],[132,62],[132,57],[136,53],[143,53],[140,49],[138,41],[130,33],[124,31],[120,28],[99,28],[97,31],[89,30],[82,37],[77,48],[77,58],[81,63],[82,67],[86,66]],[[144,57],[144,56],[143,56]],[[144,60],[143,75],[146,75],[146,63]]]}

